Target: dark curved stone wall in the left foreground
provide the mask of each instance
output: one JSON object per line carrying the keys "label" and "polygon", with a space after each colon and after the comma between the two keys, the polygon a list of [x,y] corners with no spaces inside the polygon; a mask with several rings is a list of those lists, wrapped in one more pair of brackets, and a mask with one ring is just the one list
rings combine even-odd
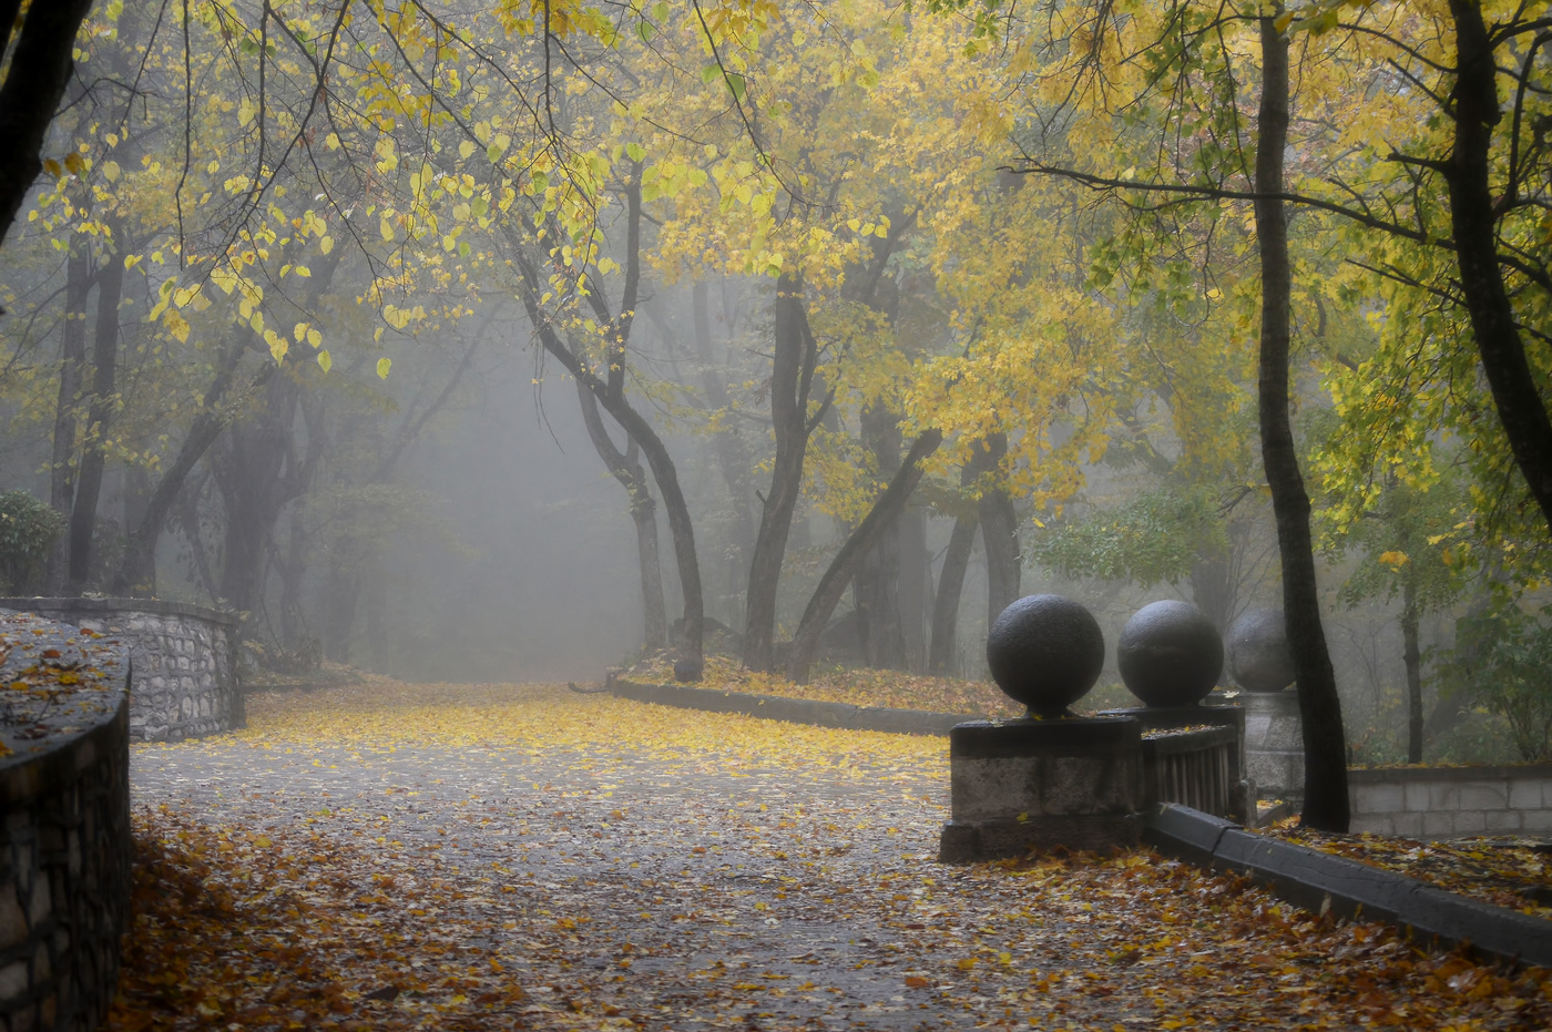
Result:
{"label": "dark curved stone wall in the left foreground", "polygon": [[[53,641],[76,644],[74,629],[53,627]],[[124,649],[106,644],[118,658],[88,670],[106,681],[81,689],[95,695],[88,708],[54,705],[45,723],[0,723],[0,1032],[90,1032],[118,985],[132,854],[129,695]]]}

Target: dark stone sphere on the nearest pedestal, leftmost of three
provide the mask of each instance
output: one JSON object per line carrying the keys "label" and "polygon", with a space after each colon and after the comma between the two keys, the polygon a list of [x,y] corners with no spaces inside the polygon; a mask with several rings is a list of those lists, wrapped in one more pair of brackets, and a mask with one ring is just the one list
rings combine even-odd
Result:
{"label": "dark stone sphere on the nearest pedestal, leftmost of three", "polygon": [[996,686],[1041,717],[1058,717],[1094,687],[1105,632],[1082,604],[1060,594],[1018,599],[992,624],[986,663]]}

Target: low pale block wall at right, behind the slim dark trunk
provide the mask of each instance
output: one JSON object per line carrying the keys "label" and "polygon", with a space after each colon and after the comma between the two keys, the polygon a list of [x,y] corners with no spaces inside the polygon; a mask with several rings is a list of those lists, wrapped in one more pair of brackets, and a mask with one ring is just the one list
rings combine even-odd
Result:
{"label": "low pale block wall at right, behind the slim dark trunk", "polygon": [[1355,768],[1347,791],[1353,832],[1552,835],[1552,764]]}

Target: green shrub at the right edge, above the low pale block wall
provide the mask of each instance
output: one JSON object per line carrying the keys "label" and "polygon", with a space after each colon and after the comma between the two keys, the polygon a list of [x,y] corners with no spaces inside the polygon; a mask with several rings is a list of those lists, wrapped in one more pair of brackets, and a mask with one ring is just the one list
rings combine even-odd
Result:
{"label": "green shrub at the right edge, above the low pale block wall", "polygon": [[1446,691],[1507,720],[1521,759],[1552,759],[1552,605],[1465,616],[1456,641],[1439,664]]}

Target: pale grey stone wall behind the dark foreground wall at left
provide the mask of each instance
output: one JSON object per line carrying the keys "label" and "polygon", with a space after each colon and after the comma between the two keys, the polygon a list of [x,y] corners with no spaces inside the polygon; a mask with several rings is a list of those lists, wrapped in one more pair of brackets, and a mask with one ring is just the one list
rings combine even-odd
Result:
{"label": "pale grey stone wall behind the dark foreground wall at left", "polygon": [[180,742],[247,725],[237,618],[155,599],[0,599],[76,627],[123,635],[133,656],[129,737]]}

